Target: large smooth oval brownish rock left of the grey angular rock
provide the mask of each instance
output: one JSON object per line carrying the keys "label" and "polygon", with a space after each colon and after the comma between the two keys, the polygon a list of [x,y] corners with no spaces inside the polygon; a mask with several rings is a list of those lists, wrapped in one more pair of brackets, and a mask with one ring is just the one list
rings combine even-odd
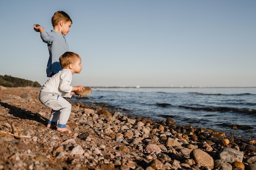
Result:
{"label": "large smooth oval brownish rock left of the grey angular rock", "polygon": [[209,166],[211,169],[214,167],[213,158],[200,149],[193,150],[190,157],[194,159],[195,163],[199,164],[200,166]]}

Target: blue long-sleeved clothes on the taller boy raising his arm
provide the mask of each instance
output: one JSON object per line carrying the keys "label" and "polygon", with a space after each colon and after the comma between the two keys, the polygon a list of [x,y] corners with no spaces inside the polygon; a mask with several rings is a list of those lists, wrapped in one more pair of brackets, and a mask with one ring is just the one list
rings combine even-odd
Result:
{"label": "blue long-sleeved clothes on the taller boy raising his arm", "polygon": [[51,77],[53,74],[58,73],[61,68],[59,58],[65,52],[69,51],[69,46],[65,35],[52,30],[50,33],[41,33],[43,42],[47,43],[49,50],[49,60],[47,63],[46,73],[47,77]]}

